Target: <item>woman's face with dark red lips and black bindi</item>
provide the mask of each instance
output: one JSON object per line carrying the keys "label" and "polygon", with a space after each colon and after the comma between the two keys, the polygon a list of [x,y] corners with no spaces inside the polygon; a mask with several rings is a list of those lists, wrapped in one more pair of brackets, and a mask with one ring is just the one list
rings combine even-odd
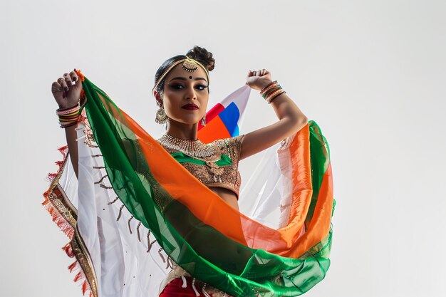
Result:
{"label": "woman's face with dark red lips and black bindi", "polygon": [[162,103],[167,116],[180,123],[195,124],[206,114],[209,93],[207,76],[198,67],[189,72],[182,64],[175,66],[165,78]]}

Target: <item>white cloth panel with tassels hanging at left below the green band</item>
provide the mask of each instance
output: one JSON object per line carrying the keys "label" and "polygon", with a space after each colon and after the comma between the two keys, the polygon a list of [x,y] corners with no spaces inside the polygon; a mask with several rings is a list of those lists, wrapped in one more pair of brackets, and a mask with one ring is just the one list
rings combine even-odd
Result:
{"label": "white cloth panel with tassels hanging at left below the green band", "polygon": [[[78,179],[71,160],[67,160],[59,184],[78,210],[78,229],[93,261],[100,297],[156,297],[159,286],[170,267],[167,256],[154,242],[147,252],[148,229],[139,227],[136,219],[123,205],[105,177],[100,150],[85,145],[83,125],[78,127]],[[78,182],[79,180],[79,182]],[[102,180],[100,183],[99,182]],[[79,186],[81,185],[81,187]],[[130,219],[130,223],[129,223]],[[132,234],[130,234],[130,229]],[[150,242],[155,238],[150,235]]]}

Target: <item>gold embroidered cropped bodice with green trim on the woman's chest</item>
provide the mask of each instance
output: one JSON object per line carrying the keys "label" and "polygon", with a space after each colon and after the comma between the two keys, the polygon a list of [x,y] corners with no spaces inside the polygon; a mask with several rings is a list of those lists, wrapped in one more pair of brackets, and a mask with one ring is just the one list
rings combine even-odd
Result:
{"label": "gold embroidered cropped bodice with green trim on the woman's chest", "polygon": [[162,147],[192,173],[207,187],[222,187],[229,189],[239,197],[241,177],[239,172],[240,143],[244,135],[215,140],[209,144],[207,154],[199,157],[190,157],[178,150],[175,145],[160,142]]}

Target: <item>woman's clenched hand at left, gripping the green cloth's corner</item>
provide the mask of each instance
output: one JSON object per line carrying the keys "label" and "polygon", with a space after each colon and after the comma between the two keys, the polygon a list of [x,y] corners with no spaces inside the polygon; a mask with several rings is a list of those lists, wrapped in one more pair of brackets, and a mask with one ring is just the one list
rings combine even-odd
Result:
{"label": "woman's clenched hand at left, gripping the green cloth's corner", "polygon": [[53,93],[59,108],[71,108],[78,104],[81,97],[82,82],[75,71],[64,73],[61,78],[58,78],[51,85],[51,93]]}

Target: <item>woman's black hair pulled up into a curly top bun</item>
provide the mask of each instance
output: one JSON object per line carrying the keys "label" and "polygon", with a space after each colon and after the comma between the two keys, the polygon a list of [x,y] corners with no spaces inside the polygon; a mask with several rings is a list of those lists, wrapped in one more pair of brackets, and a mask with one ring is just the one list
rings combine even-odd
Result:
{"label": "woman's black hair pulled up into a curly top bun", "polygon": [[[173,63],[180,61],[186,57],[199,61],[199,63],[202,63],[202,65],[207,68],[207,71],[212,71],[214,69],[215,59],[212,58],[212,53],[207,51],[206,48],[194,46],[194,48],[187,51],[186,55],[177,55],[172,58],[168,58],[164,63],[162,63],[160,68],[158,68],[157,72],[155,73],[155,83],[157,82],[158,78],[160,78],[162,73],[165,73],[167,68],[169,68]],[[157,85],[157,88],[155,89],[160,95],[162,95],[162,90],[164,90],[164,80],[165,78],[162,78],[160,83]],[[207,90],[209,92],[209,88]],[[157,103],[160,104],[158,100]]]}

